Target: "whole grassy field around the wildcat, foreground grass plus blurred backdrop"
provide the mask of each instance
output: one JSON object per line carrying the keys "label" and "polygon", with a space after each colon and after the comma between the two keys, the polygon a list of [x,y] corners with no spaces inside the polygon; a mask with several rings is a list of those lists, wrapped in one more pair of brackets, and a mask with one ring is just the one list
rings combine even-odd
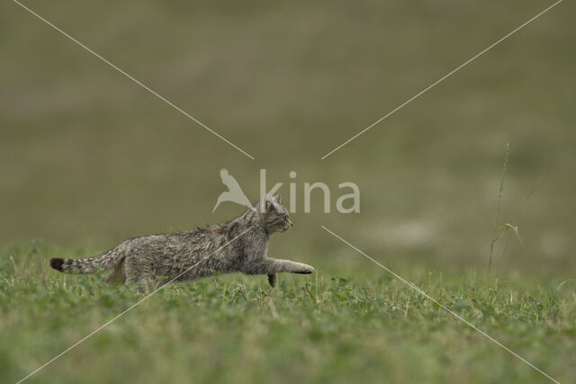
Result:
{"label": "whole grassy field around the wildcat, foreground grass plus blurred backdrop", "polygon": [[[238,216],[211,211],[222,167],[252,201],[262,168],[284,201],[296,183],[294,228],[269,251],[317,273],[170,285],[31,382],[548,381],[320,225],[576,381],[574,2],[324,160],[554,0],[22,3],[256,160],[2,2],[0,382],[143,297],[50,257]],[[314,182],[332,208],[356,183],[360,213],[324,213],[320,195],[304,213]],[[502,228],[519,237],[491,249]]]}

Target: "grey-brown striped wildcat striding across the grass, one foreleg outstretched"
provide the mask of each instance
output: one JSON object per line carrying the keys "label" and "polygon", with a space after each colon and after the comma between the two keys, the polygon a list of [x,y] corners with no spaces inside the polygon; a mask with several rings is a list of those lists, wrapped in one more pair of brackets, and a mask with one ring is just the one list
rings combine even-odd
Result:
{"label": "grey-brown striped wildcat striding across the grass, one foreleg outstretched", "polygon": [[[50,259],[64,273],[112,273],[106,281],[138,285],[191,281],[214,272],[267,274],[275,286],[276,273],[311,273],[304,263],[266,257],[270,237],[293,227],[281,195],[265,196],[246,213],[227,223],[189,232],[130,238],[103,255],[86,259]],[[167,279],[166,279],[167,278]]]}

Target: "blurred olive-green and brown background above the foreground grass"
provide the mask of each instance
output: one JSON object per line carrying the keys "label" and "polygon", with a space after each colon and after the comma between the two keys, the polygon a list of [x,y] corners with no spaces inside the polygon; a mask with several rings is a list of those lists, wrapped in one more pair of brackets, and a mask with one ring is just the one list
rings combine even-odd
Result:
{"label": "blurred olive-green and brown background above the foreground grass", "polygon": [[[552,4],[41,2],[35,12],[256,157],[251,160],[13,2],[0,5],[0,244],[101,252],[231,219],[298,176],[271,255],[484,271],[506,143],[497,272],[571,275],[576,229],[574,5],[564,2],[324,160],[320,157]],[[361,190],[361,212],[303,214],[303,183]],[[535,189],[536,188],[536,189]],[[527,201],[527,193],[534,193]],[[520,218],[517,220],[518,214]],[[383,273],[378,272],[378,273]]]}

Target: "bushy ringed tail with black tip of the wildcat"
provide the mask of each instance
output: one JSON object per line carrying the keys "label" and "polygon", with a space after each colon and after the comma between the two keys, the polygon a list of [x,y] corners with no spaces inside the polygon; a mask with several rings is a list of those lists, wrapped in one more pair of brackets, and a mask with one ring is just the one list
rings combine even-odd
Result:
{"label": "bushy ringed tail with black tip of the wildcat", "polygon": [[62,273],[94,273],[96,268],[100,271],[109,271],[121,263],[125,254],[122,246],[117,246],[103,255],[88,257],[86,259],[63,259],[54,257],[50,259],[50,266]]}

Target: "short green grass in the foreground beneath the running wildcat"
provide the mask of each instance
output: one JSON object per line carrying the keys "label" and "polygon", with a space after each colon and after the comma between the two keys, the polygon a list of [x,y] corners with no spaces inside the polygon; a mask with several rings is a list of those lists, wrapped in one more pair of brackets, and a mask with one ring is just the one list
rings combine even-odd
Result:
{"label": "short green grass in the foreground beneath the running wildcat", "polygon": [[[53,272],[54,253],[1,251],[0,382],[22,379],[144,297],[103,276]],[[243,275],[166,286],[30,382],[546,381],[401,281],[358,265],[366,273],[283,274],[273,290]],[[555,379],[575,379],[574,281],[411,274]]]}

